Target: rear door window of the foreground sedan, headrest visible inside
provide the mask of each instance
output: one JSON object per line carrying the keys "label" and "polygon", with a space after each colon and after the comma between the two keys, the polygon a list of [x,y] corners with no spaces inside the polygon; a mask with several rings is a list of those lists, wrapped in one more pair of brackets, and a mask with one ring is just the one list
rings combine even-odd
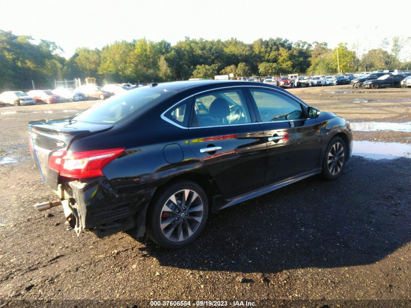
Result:
{"label": "rear door window of the foreground sedan, headrest visible inside", "polygon": [[220,91],[197,96],[192,126],[219,126],[250,123],[250,113],[241,90]]}

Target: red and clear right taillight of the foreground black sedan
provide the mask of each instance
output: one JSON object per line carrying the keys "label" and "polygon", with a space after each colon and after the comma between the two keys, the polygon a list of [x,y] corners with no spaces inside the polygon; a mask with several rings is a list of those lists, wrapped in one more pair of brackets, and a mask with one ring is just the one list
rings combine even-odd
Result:
{"label": "red and clear right taillight of the foreground black sedan", "polygon": [[124,152],[124,148],[85,152],[54,151],[49,168],[68,178],[93,178],[103,175],[103,167]]}

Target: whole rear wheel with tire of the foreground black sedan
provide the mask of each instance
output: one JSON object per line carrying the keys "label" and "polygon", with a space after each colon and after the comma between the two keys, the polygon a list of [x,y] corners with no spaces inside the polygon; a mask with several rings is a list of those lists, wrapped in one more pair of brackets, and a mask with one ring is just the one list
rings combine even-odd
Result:
{"label": "whole rear wheel with tire of the foreground black sedan", "polygon": [[147,211],[147,235],[164,248],[192,243],[204,228],[208,199],[195,182],[181,181],[160,189]]}

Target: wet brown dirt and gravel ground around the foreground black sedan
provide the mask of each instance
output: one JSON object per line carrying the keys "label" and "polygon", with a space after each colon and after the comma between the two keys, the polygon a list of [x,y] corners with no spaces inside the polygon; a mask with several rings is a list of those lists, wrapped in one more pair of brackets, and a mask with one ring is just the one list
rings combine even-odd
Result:
{"label": "wet brown dirt and gravel ground around the foreground black sedan", "polygon": [[[290,91],[351,122],[411,121],[411,89]],[[411,159],[354,156],[338,181],[310,178],[212,215],[195,243],[177,251],[126,233],[77,237],[62,209],[31,207],[55,197],[30,158],[27,122],[93,103],[0,107],[0,307],[120,303],[85,299],[410,307]],[[410,132],[355,138],[411,143]]]}

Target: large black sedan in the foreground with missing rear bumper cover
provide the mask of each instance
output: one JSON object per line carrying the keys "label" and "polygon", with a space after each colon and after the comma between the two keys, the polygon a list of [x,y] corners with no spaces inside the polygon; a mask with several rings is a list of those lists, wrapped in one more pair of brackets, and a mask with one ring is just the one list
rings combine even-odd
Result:
{"label": "large black sedan in the foreground with missing rear bumper cover", "polygon": [[281,88],[237,81],[151,84],[71,118],[31,122],[30,148],[71,229],[192,242],[210,213],[321,174],[351,156],[347,121]]}

